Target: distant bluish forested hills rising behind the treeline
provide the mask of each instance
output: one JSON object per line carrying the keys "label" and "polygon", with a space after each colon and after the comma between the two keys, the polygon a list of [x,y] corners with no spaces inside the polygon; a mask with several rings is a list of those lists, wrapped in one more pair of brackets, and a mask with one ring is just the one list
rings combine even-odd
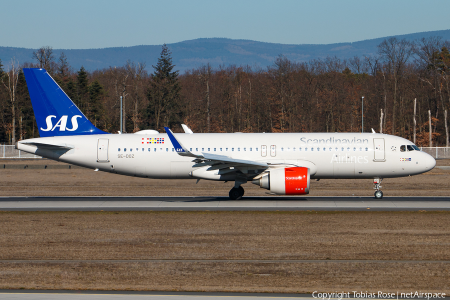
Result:
{"label": "distant bluish forested hills rising behind the treeline", "polygon": [[[450,40],[450,29],[395,36],[408,40],[442,36],[444,40]],[[376,55],[376,45],[382,42],[384,38],[388,37],[333,44],[278,44],[244,39],[197,38],[167,44],[167,46],[172,52],[172,62],[175,64],[175,68],[182,73],[207,62],[213,67],[248,64],[265,68],[271,65],[279,54],[283,54],[296,62],[323,59],[327,56],[337,56],[340,59],[348,59],[353,56],[374,56]],[[7,64],[12,57],[15,57],[19,63],[35,62],[31,58],[32,52],[35,50],[0,46],[0,59],[3,64]],[[102,69],[114,65],[120,66],[129,59],[134,62],[145,62],[147,71],[151,72],[153,70],[151,65],[156,64],[161,52],[161,45],[53,50],[55,60],[59,57],[60,52],[64,51],[68,63],[74,70],[79,69],[81,65],[87,70]]]}

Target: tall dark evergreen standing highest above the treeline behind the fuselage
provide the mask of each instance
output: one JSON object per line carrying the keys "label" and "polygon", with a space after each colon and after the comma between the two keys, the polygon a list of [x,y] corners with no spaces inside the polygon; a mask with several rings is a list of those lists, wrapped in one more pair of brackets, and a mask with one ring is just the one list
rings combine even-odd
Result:
{"label": "tall dark evergreen standing highest above the treeline behind the fuselage", "polygon": [[148,123],[153,123],[155,129],[159,129],[161,123],[166,126],[171,125],[179,113],[179,108],[176,107],[180,90],[179,71],[172,71],[175,65],[172,64],[170,54],[167,46],[163,44],[161,56],[158,58],[158,63],[152,65],[154,72],[150,75],[147,117],[153,119],[153,122],[148,120]]}

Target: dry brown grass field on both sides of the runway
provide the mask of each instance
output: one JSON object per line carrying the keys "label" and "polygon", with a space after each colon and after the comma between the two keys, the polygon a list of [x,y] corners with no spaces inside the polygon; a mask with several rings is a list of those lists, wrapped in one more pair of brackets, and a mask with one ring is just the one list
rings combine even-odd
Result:
{"label": "dry brown grass field on both sides of the runway", "polygon": [[[2,164],[3,196],[227,195],[231,185],[59,168],[59,163],[43,159]],[[12,164],[28,167],[11,168]],[[435,168],[413,177],[385,179],[383,191],[386,196],[447,196],[449,174],[450,170]],[[265,195],[252,184],[245,189],[246,195]],[[330,194],[372,196],[372,184],[368,179],[311,183],[311,195]],[[435,260],[450,257],[449,237],[446,211],[3,211],[0,288],[448,294],[450,264]],[[86,261],[105,259],[153,261]],[[163,261],[167,259],[172,260]],[[317,261],[260,261],[288,259]]]}

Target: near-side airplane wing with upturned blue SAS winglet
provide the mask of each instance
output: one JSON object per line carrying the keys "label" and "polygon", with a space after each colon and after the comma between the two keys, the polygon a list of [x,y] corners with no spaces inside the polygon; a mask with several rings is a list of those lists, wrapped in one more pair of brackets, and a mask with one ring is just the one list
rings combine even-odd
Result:
{"label": "near-side airplane wing with upturned blue SAS winglet", "polygon": [[[181,156],[189,156],[195,158],[193,162],[194,167],[206,166],[206,165],[216,165],[213,169],[222,169],[229,167],[245,167],[246,169],[260,169],[265,170],[269,167],[269,165],[265,162],[254,161],[254,160],[246,160],[246,159],[236,159],[226,155],[218,155],[212,153],[204,153],[194,154],[190,152],[186,147],[184,147],[175,137],[172,130],[168,127],[164,127],[165,132],[172,142],[173,147],[175,148],[176,153]],[[221,164],[222,167],[217,166],[217,164]]]}

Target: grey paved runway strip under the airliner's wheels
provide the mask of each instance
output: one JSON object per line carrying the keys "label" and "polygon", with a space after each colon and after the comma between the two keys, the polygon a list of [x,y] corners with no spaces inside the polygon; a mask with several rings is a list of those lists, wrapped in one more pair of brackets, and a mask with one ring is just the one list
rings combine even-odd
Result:
{"label": "grey paved runway strip under the airliner's wheels", "polygon": [[450,210],[450,197],[0,197],[0,210]]}

